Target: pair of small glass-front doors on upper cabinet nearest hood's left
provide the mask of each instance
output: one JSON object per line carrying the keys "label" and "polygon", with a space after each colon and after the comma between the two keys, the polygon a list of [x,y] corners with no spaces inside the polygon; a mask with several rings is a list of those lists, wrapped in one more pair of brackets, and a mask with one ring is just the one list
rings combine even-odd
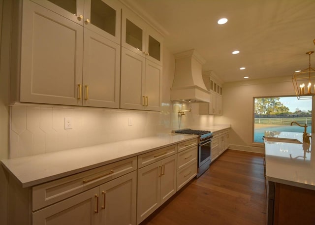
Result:
{"label": "pair of small glass-front doors on upper cabinet nearest hood's left", "polygon": [[162,65],[163,37],[137,15],[123,10],[122,46],[134,53]]}

